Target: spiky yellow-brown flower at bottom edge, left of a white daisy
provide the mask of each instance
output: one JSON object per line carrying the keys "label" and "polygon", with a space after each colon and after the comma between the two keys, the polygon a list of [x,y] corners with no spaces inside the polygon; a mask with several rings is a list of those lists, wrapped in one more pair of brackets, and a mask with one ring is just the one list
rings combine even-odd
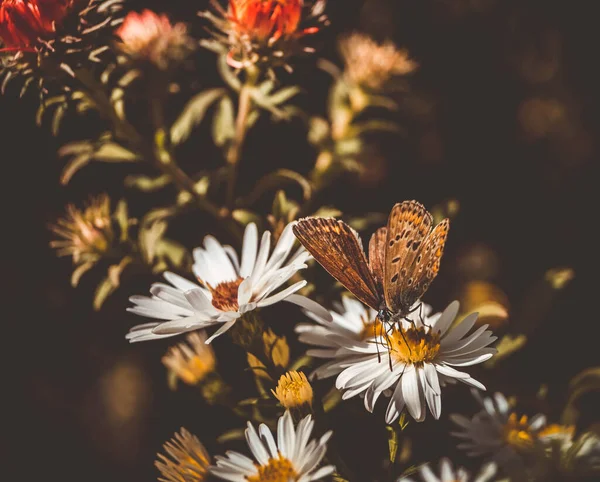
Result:
{"label": "spiky yellow-brown flower at bottom edge, left of a white daisy", "polygon": [[208,475],[210,457],[197,437],[182,428],[163,445],[167,455],[155,462],[162,482],[201,482]]}

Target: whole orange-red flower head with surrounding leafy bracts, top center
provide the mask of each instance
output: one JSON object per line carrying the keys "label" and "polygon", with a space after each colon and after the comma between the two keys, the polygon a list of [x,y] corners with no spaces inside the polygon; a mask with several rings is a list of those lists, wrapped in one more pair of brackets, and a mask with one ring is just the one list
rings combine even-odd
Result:
{"label": "whole orange-red flower head with surrounding leafy bracts, top center", "polygon": [[324,0],[311,5],[304,0],[229,0],[227,10],[216,1],[213,5],[216,15],[201,13],[217,29],[205,46],[226,53],[229,65],[238,69],[260,63],[289,70],[287,57],[312,51],[299,39],[317,33],[326,22]]}

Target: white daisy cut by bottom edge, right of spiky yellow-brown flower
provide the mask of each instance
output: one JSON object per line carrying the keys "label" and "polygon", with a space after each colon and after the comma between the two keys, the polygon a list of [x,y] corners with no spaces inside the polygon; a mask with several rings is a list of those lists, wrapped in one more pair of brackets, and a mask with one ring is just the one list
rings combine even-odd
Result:
{"label": "white daisy cut by bottom edge, right of spiky yellow-brown flower", "polygon": [[256,462],[238,452],[227,452],[225,457],[215,457],[213,475],[231,482],[260,482],[280,480],[285,482],[309,482],[321,480],[332,474],[333,465],[317,468],[327,450],[326,444],[332,432],[319,440],[311,440],[314,422],[308,415],[298,427],[289,411],[277,422],[277,442],[265,424],[258,431],[248,422],[246,441]]}

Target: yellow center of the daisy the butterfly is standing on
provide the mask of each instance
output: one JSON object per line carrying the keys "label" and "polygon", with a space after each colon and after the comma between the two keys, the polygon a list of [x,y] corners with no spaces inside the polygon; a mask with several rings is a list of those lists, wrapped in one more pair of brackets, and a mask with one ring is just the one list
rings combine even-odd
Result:
{"label": "yellow center of the daisy the butterfly is standing on", "polygon": [[425,363],[435,359],[440,351],[440,334],[420,326],[394,328],[388,338],[389,350],[402,363]]}

